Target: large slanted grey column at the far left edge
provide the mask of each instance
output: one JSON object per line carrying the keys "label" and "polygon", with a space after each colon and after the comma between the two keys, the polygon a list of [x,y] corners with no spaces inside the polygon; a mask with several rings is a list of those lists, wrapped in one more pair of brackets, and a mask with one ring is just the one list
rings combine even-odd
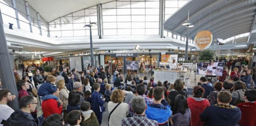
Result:
{"label": "large slanted grey column at the far left edge", "polygon": [[[1,14],[1,10],[0,10]],[[18,90],[13,74],[10,53],[8,51],[7,42],[4,34],[2,15],[0,15],[0,78],[4,89],[10,90],[10,93],[16,95],[16,98],[10,102],[10,107],[14,110],[19,109]]]}

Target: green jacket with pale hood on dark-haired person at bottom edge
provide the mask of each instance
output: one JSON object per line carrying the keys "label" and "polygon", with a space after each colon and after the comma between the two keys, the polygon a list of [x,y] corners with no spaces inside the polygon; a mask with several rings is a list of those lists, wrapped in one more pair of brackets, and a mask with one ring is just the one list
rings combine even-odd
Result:
{"label": "green jacket with pale hood on dark-haired person at bottom edge", "polygon": [[80,126],[99,126],[99,122],[95,113],[92,110],[82,111],[84,120],[81,121]]}

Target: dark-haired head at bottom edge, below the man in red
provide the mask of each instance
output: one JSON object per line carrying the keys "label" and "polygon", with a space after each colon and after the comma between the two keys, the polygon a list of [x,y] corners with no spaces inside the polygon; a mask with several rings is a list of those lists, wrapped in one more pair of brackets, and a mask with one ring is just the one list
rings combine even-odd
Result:
{"label": "dark-haired head at bottom edge, below the man in red", "polygon": [[52,114],[43,121],[42,126],[64,126],[63,116],[60,114]]}

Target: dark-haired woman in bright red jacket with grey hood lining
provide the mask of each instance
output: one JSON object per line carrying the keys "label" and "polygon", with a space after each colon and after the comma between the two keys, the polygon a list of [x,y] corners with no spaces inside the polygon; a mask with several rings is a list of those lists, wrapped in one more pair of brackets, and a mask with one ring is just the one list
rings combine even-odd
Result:
{"label": "dark-haired woman in bright red jacket with grey hood lining", "polygon": [[202,98],[203,94],[204,89],[201,86],[195,86],[193,88],[193,96],[187,98],[191,110],[191,126],[202,126],[204,123],[200,120],[200,114],[207,106],[210,106],[210,103],[207,99]]}

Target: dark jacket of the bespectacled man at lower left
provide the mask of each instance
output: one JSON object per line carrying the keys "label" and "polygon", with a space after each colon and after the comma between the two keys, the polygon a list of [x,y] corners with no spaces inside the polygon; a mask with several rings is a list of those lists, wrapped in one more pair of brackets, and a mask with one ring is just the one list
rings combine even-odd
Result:
{"label": "dark jacket of the bespectacled man at lower left", "polygon": [[34,121],[34,118],[29,113],[25,113],[18,109],[11,114],[8,120],[10,126],[19,126],[23,123]]}

